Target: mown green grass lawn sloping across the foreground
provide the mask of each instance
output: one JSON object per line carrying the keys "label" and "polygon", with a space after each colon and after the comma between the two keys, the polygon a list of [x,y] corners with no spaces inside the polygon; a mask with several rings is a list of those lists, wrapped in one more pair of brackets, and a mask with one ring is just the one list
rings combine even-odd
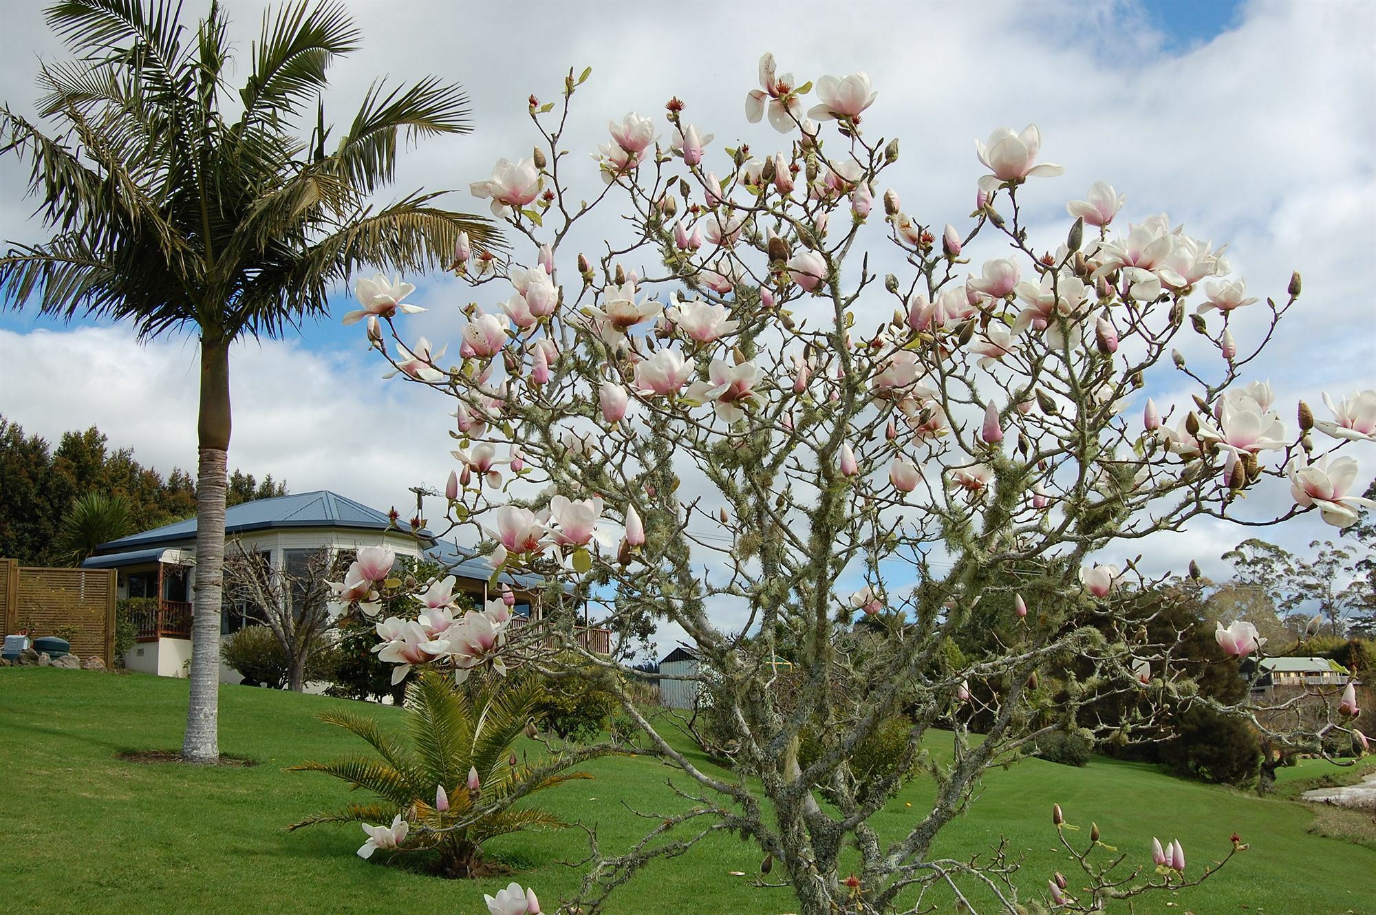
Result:
{"label": "mown green grass lawn sloping across the foreground", "polygon": [[[484,912],[482,893],[505,879],[462,883],[381,865],[383,854],[362,861],[354,850],[363,832],[352,824],[283,831],[288,823],[345,799],[344,787],[326,776],[282,771],[356,749],[348,735],[312,717],[341,704],[354,703],[227,687],[220,700],[222,749],[260,765],[138,765],[116,754],[179,746],[186,681],[0,670],[0,911]],[[384,720],[398,714],[373,709]],[[596,782],[575,782],[541,797],[567,820],[596,823],[607,849],[626,848],[648,823],[623,802],[658,813],[682,806],[666,787],[673,771],[654,760],[601,760],[589,768]],[[1320,773],[1320,764],[1304,764],[1284,777]],[[886,835],[899,834],[919,816],[929,794],[927,786],[910,786],[875,826]],[[969,816],[943,834],[941,852],[971,854],[1003,834],[1026,856],[1021,886],[1044,886],[1057,867],[1069,875],[1066,856],[1055,850],[1053,801],[1086,830],[1097,820],[1104,841],[1134,860],[1149,861],[1153,834],[1163,843],[1179,838],[1192,874],[1226,852],[1233,830],[1251,843],[1204,886],[1175,898],[1148,897],[1138,914],[1376,915],[1376,852],[1310,834],[1309,808],[1101,758],[1084,769],[1025,761],[992,772]],[[579,830],[568,830],[508,837],[491,848],[553,909],[579,876],[560,861],[581,857],[582,842]],[[652,865],[614,897],[608,911],[791,912],[787,890],[755,889],[749,878],[729,875],[754,874],[757,867],[751,846],[716,837],[684,857]]]}

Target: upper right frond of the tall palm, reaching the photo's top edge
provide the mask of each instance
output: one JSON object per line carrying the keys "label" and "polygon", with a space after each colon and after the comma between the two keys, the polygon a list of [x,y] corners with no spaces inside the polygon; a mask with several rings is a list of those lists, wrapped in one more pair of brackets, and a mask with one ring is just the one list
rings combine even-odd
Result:
{"label": "upper right frond of the tall palm, reaching the photo's top edge", "polygon": [[325,88],[330,62],[358,48],[361,33],[334,3],[285,4],[277,18],[263,14],[263,32],[253,45],[253,73],[241,89],[241,125],[260,117],[294,113]]}

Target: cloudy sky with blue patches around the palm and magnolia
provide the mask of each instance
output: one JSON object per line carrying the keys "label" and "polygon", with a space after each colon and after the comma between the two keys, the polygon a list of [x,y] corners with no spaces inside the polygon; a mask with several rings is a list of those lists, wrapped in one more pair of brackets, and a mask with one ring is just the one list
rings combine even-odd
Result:
{"label": "cloudy sky with blue patches around the palm and magnolia", "polygon": [[[660,117],[677,95],[685,120],[717,135],[709,153],[743,139],[779,144],[768,124],[747,124],[743,100],[757,61],[772,51],[799,80],[864,70],[878,89],[866,125],[900,136],[886,176],[923,223],[963,220],[982,172],[974,139],[1036,122],[1044,161],[1065,175],[1029,187],[1033,237],[1065,237],[1064,205],[1090,183],[1127,194],[1126,223],[1167,212],[1186,233],[1229,244],[1249,294],[1282,297],[1292,270],[1304,297],[1256,365],[1281,405],[1296,398],[1324,414],[1321,391],[1376,387],[1376,296],[1368,275],[1376,213],[1376,6],[1368,3],[1135,3],[1130,0],[963,4],[365,3],[350,12],[362,48],[332,70],[327,113],[343,120],[378,77],[431,73],[471,98],[471,136],[427,142],[398,169],[398,193],[457,189],[447,205],[486,212],[466,187],[498,157],[530,155],[526,99],[557,95],[570,67],[592,65],[571,122],[574,161],[626,111]],[[187,18],[204,4],[189,1]],[[241,56],[263,4],[230,3]],[[692,10],[692,14],[689,14]],[[0,100],[32,110],[39,59],[61,59],[41,3],[7,3],[11,48],[0,58]],[[667,124],[662,125],[667,135]],[[37,241],[26,172],[0,157],[0,239]],[[594,239],[588,239],[589,244]],[[976,264],[977,268],[978,264]],[[469,300],[446,277],[409,277],[429,311],[407,325],[439,345],[457,340]],[[231,466],[272,473],[292,491],[332,488],[377,508],[407,506],[407,487],[440,486],[453,466],[443,398],[381,380],[362,325],[344,327],[347,289],[333,318],[283,340],[233,352]],[[885,305],[888,308],[888,305]],[[1259,315],[1237,330],[1259,334]],[[1249,323],[1251,322],[1251,323]],[[1203,351],[1200,351],[1203,352]],[[1190,355],[1190,354],[1187,354]],[[50,440],[98,425],[116,447],[162,472],[195,466],[197,347],[172,336],[136,345],[127,327],[56,323],[0,311],[0,414]],[[1171,391],[1152,391],[1170,399]],[[1293,422],[1293,420],[1291,420]],[[1376,453],[1358,451],[1361,483]],[[1288,497],[1281,487],[1281,505]],[[1303,552],[1336,531],[1306,519],[1273,531]],[[1150,543],[1145,566],[1197,559],[1222,575],[1219,556],[1249,531],[1218,524]]]}

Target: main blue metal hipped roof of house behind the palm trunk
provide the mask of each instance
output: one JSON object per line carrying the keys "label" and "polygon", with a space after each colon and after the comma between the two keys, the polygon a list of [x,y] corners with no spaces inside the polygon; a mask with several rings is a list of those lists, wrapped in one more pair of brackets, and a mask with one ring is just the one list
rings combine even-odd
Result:
{"label": "main blue metal hipped roof of house behind the palm trunk", "polygon": [[[387,512],[378,512],[376,508],[369,508],[329,490],[241,502],[224,512],[226,534],[246,534],[281,527],[352,527],[384,531],[388,526]],[[421,534],[428,535],[428,531],[421,531]],[[96,553],[122,553],[191,539],[195,539],[194,517],[100,543]]]}

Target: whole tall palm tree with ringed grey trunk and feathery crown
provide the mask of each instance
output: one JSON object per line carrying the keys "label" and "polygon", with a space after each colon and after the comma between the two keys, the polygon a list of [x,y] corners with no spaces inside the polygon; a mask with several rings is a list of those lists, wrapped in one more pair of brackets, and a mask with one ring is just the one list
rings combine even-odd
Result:
{"label": "whole tall palm tree with ringed grey trunk and feathery crown", "polygon": [[[392,180],[402,142],[469,129],[460,87],[435,77],[376,83],[330,144],[326,70],[359,39],[340,6],[267,12],[233,95],[220,4],[190,41],[179,17],[168,0],[66,0],[47,11],[74,54],[39,70],[40,116],[61,131],[0,107],[0,154],[29,164],[51,238],[0,257],[0,299],[23,307],[36,297],[65,319],[129,321],[140,340],[176,329],[200,336],[198,566],[182,754],[213,762],[230,345],[326,314],[329,290],[358,268],[429,270],[461,231],[483,244],[490,228],[435,206],[436,194],[372,202]],[[308,139],[296,131],[303,114]]]}

